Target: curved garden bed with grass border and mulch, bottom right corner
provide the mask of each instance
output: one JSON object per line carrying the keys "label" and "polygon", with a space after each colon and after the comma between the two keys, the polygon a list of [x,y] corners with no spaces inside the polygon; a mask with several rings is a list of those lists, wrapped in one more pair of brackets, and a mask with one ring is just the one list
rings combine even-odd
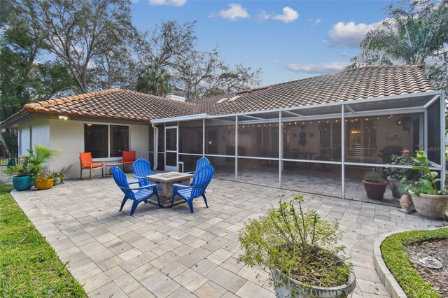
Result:
{"label": "curved garden bed with grass border and mulch, bottom right corner", "polygon": [[[446,259],[448,228],[410,231],[388,236],[381,244],[381,255],[386,266],[408,297],[447,297],[447,278],[442,269],[418,269],[409,261],[418,254]],[[447,271],[447,260],[444,260]],[[442,271],[441,271],[442,270]],[[437,275],[439,277],[437,277]],[[437,283],[433,281],[438,280]],[[445,290],[442,290],[445,289]]]}

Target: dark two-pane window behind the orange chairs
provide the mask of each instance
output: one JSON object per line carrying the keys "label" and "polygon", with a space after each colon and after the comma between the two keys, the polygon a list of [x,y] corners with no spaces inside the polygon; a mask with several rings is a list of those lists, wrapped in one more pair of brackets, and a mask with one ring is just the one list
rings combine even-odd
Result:
{"label": "dark two-pane window behind the orange chairs", "polygon": [[84,150],[93,158],[119,157],[129,150],[129,127],[122,125],[84,125]]}

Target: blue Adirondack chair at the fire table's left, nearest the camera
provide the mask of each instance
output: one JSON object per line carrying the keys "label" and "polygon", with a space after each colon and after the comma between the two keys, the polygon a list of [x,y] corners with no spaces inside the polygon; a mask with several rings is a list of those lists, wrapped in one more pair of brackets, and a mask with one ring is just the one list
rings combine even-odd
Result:
{"label": "blue Adirondack chair at the fire table's left, nearest the camera", "polygon": [[131,213],[132,216],[135,212],[135,209],[139,204],[144,201],[145,203],[148,203],[148,199],[155,196],[157,197],[157,201],[160,207],[160,198],[159,194],[157,192],[157,186],[155,184],[150,185],[144,185],[139,187],[130,187],[130,184],[139,183],[139,181],[135,181],[132,183],[127,183],[127,178],[125,173],[121,169],[119,169],[117,166],[113,166],[112,168],[112,176],[113,180],[117,183],[118,187],[120,187],[120,190],[122,190],[125,193],[125,197],[123,198],[123,201],[121,202],[120,211],[123,209],[123,206],[125,206],[125,203],[128,199],[131,199],[134,201],[132,203],[131,207]]}

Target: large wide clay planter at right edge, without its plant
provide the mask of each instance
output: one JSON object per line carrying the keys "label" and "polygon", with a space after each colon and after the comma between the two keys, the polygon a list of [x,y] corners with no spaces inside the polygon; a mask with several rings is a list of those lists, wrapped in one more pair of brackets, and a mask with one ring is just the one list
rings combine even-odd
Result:
{"label": "large wide clay planter at right edge, without its plant", "polygon": [[420,194],[417,196],[409,190],[417,213],[434,220],[444,219],[448,206],[448,195]]}

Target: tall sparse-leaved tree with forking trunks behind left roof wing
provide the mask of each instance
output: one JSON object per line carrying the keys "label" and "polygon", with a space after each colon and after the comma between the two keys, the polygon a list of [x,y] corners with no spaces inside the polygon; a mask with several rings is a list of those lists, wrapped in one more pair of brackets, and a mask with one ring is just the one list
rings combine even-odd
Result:
{"label": "tall sparse-leaved tree with forking trunks behind left roof wing", "polygon": [[[52,54],[71,72],[80,92],[97,86],[110,87],[116,82],[118,64],[113,53],[132,44],[138,35],[132,26],[129,0],[17,0],[15,6],[32,27],[38,28],[39,38]],[[126,52],[123,54],[127,54]],[[108,60],[109,58],[109,60]],[[118,58],[118,55],[115,55]],[[97,63],[105,62],[106,68]],[[92,78],[93,70],[103,70],[102,76]]]}

